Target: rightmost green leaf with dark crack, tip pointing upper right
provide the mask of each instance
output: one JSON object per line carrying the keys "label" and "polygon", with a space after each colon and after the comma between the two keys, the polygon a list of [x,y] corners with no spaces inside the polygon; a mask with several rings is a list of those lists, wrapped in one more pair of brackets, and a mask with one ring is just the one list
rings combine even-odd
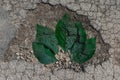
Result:
{"label": "rightmost green leaf with dark crack, tip pointing upper right", "polygon": [[91,59],[96,49],[96,38],[87,39],[85,47],[81,44],[75,44],[72,53],[72,61],[77,63],[85,63]]}

